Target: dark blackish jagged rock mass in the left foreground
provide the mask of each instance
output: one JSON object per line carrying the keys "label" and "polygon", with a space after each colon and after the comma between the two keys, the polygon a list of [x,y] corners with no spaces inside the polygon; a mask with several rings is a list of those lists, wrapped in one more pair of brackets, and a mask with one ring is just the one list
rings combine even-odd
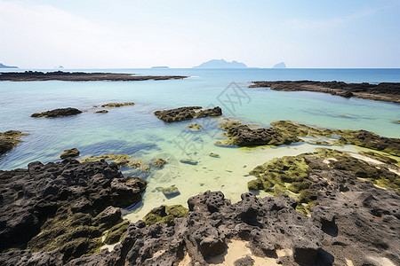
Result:
{"label": "dark blackish jagged rock mass in the left foreground", "polygon": [[[104,160],[37,161],[28,169],[0,171],[0,180],[0,251],[59,250],[62,262],[98,250],[106,231],[119,240],[127,227],[119,207],[139,202],[146,186]],[[12,253],[2,253],[0,264],[6,256]]]}

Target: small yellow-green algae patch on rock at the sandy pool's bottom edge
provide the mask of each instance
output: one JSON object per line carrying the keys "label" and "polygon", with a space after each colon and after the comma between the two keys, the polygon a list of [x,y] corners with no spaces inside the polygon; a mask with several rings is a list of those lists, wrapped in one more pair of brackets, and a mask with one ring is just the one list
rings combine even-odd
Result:
{"label": "small yellow-green algae patch on rock at the sandy pool's bottom edge", "polygon": [[188,215],[188,208],[181,205],[160,206],[152,209],[147,215],[143,217],[146,225],[155,223],[167,223],[169,226],[174,225],[175,218],[185,217]]}

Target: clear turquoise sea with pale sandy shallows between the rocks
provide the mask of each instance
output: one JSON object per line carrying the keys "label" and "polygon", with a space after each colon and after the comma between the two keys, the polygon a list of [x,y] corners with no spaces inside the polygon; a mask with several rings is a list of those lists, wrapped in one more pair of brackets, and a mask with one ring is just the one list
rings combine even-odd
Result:
{"label": "clear turquoise sea with pale sandy shallows between the rocks", "polygon": [[[87,71],[87,70],[86,70]],[[93,70],[91,70],[93,71]],[[223,118],[164,123],[156,110],[179,106],[221,106],[224,116],[268,125],[292,120],[332,129],[367,129],[386,137],[400,137],[396,104],[359,98],[340,98],[317,92],[248,89],[248,82],[262,80],[316,80],[344,82],[400,82],[399,69],[113,69],[102,72],[182,74],[190,78],[144,82],[0,82],[0,131],[29,133],[24,142],[0,157],[0,169],[26,168],[28,162],[59,160],[60,152],[76,147],[81,156],[127,153],[146,161],[164,158],[164,168],[139,173],[122,168],[124,175],[146,178],[144,200],[126,217],[136,221],[161,204],[183,204],[189,196],[220,190],[228,199],[240,200],[252,180],[249,171],[274,157],[313,151],[304,143],[258,148],[213,145],[223,133],[216,125]],[[236,82],[232,84],[231,82]],[[230,85],[230,86],[229,86]],[[94,113],[92,106],[133,101],[135,106]],[[30,114],[60,107],[85,112],[73,117],[35,119]],[[348,117],[341,116],[347,115]],[[188,124],[203,125],[200,131]],[[355,151],[348,145],[337,147]],[[213,158],[209,153],[218,153]],[[197,160],[197,165],[180,159]],[[176,185],[180,196],[166,199],[157,187]],[[128,212],[129,213],[129,212]]]}

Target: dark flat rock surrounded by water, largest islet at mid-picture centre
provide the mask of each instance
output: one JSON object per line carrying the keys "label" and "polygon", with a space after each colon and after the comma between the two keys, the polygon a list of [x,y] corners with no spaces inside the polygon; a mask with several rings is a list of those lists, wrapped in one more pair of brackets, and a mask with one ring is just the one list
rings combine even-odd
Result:
{"label": "dark flat rock surrounded by water, largest islet at mid-picture centre", "polygon": [[186,121],[194,118],[207,117],[207,116],[220,116],[222,110],[219,106],[214,108],[204,109],[202,106],[188,106],[176,109],[169,109],[154,112],[156,117],[162,121]]}

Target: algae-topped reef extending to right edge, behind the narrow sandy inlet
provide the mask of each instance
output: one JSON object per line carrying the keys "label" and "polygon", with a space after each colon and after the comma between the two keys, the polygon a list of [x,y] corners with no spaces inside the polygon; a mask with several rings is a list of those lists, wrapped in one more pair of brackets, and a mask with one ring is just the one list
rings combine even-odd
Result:
{"label": "algae-topped reef extending to right edge, behind the narrow sandy inlet", "polygon": [[[275,121],[270,128],[259,128],[228,121],[219,125],[224,129],[227,139],[217,141],[216,145],[290,145],[304,141],[319,145],[358,145],[377,151],[400,156],[400,139],[380,137],[366,130],[340,130],[310,127],[294,121]],[[311,137],[301,139],[300,137]],[[329,141],[320,137],[332,138]]]}

